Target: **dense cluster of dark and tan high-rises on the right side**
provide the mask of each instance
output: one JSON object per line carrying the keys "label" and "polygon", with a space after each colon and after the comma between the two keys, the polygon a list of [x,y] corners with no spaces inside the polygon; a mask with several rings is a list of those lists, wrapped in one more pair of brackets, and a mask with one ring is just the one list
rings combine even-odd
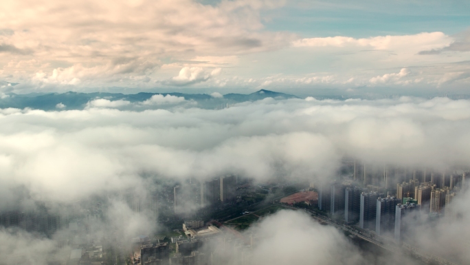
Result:
{"label": "dense cluster of dark and tan high-rises on the right side", "polygon": [[[388,235],[400,242],[407,229],[425,215],[456,220],[452,203],[465,187],[465,173],[382,170],[366,165],[353,167],[353,180],[345,179],[318,187],[318,207],[347,224]],[[406,217],[406,218],[405,218]]]}

